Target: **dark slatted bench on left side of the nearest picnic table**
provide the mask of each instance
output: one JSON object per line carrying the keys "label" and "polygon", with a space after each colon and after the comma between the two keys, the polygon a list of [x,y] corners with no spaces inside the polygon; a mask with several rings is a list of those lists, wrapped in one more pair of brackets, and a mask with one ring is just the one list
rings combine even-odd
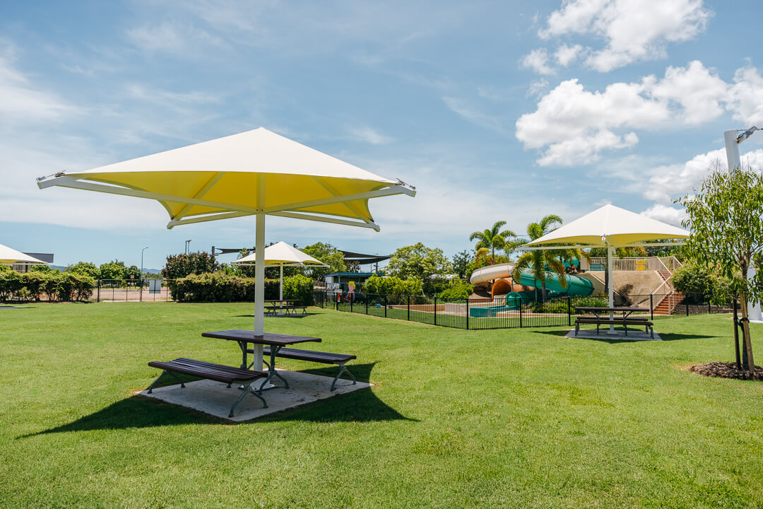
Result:
{"label": "dark slatted bench on left side of the nearest picnic table", "polygon": [[180,379],[178,375],[175,375],[175,373],[182,373],[183,375],[198,376],[200,379],[223,382],[224,384],[227,384],[229,388],[233,383],[243,385],[243,392],[236,402],[233,403],[233,406],[230,407],[230,414],[228,417],[233,417],[233,410],[236,409],[237,404],[239,404],[243,397],[249,392],[262,401],[262,408],[268,408],[268,403],[265,401],[265,398],[262,398],[262,396],[257,394],[252,388],[253,382],[266,376],[266,373],[261,371],[250,371],[249,369],[234,368],[233,366],[225,366],[224,364],[215,364],[214,362],[205,362],[203,360],[186,359],[185,357],[166,362],[152,361],[149,362],[148,365],[152,368],[163,369],[159,378],[154,380],[153,384],[148,388],[149,394],[153,391],[153,386],[165,375],[172,376],[180,382],[181,388],[185,388],[185,383],[183,383],[182,379]]}

